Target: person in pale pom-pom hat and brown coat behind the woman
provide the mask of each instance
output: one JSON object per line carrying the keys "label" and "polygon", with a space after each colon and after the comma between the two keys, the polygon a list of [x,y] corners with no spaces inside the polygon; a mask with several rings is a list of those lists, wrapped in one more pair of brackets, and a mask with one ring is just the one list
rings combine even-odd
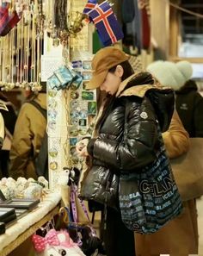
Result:
{"label": "person in pale pom-pom hat and brown coat behind the woman", "polygon": [[[178,88],[187,79],[187,70],[181,73],[174,63],[168,61],[156,61],[147,67],[147,71],[151,72],[160,86],[172,84],[173,88]],[[184,72],[185,75],[183,75]],[[188,133],[176,112],[172,117],[169,130],[163,133],[163,142],[170,159],[177,158],[188,151]],[[198,226],[195,199],[183,202],[183,213],[157,233],[135,234],[135,247],[137,256],[197,254]]]}

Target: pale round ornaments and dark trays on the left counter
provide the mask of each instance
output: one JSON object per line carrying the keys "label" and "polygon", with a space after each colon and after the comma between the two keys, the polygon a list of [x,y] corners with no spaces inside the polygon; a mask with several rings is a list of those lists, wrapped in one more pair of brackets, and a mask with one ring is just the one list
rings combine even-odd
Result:
{"label": "pale round ornaments and dark trays on the left counter", "polygon": [[[43,192],[44,190],[44,192]],[[5,228],[15,224],[24,215],[36,209],[49,192],[48,182],[44,177],[38,181],[33,178],[2,178],[0,180],[0,222]]]}

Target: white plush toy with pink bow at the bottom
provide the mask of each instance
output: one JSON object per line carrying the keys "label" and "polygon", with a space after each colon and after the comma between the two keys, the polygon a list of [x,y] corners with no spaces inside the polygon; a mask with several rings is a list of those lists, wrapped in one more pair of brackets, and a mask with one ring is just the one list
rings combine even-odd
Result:
{"label": "white plush toy with pink bow at the bottom", "polygon": [[34,234],[32,240],[37,256],[85,256],[65,230],[50,229],[45,237]]}

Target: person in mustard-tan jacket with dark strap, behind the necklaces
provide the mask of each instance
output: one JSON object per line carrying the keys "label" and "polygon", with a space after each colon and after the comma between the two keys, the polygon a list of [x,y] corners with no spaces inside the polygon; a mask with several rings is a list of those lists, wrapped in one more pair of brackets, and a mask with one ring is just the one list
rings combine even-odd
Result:
{"label": "person in mustard-tan jacket with dark strap, behind the necklaces", "polygon": [[46,109],[46,85],[37,94],[27,91],[27,102],[22,104],[13,141],[9,153],[9,176],[12,178],[37,178],[34,170],[34,158],[40,152],[40,146],[46,131],[46,119],[33,104],[35,101]]}

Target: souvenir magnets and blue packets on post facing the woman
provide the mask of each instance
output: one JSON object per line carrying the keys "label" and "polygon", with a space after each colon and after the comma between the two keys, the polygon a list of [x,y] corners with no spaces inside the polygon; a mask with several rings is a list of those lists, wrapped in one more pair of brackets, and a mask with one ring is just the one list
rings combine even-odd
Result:
{"label": "souvenir magnets and blue packets on post facing the woman", "polygon": [[[77,156],[76,144],[84,137],[90,138],[96,116],[95,91],[85,90],[85,84],[88,83],[91,75],[90,60],[79,59],[73,60],[72,66],[60,66],[47,80],[48,91],[62,90],[65,97],[66,140],[64,144],[64,169],[77,168],[80,171],[82,168],[83,158]],[[54,112],[58,113],[57,108],[59,103],[53,98],[56,99],[55,94],[52,97],[52,94],[49,93],[48,104],[50,108],[48,113],[50,114]],[[57,116],[50,115],[49,124],[56,124]],[[48,127],[50,128],[48,130],[49,133],[52,128],[49,125]],[[56,148],[56,144],[54,147]],[[49,149],[49,154],[53,159],[58,155],[54,153],[55,151],[53,151],[52,147]],[[62,175],[62,172],[60,175]]]}

